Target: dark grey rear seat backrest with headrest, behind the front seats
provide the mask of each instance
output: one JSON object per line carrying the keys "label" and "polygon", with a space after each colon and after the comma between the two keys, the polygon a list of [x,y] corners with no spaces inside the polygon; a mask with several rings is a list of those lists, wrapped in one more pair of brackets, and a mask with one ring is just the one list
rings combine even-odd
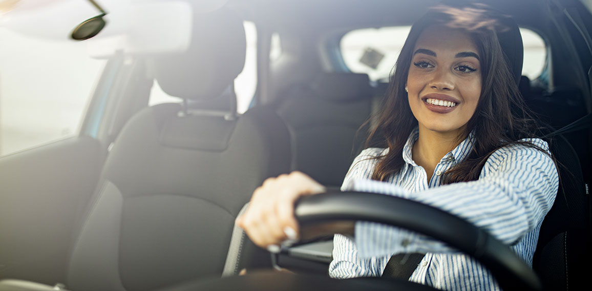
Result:
{"label": "dark grey rear seat backrest with headrest, behind the front seats", "polygon": [[368,75],[324,73],[310,87],[297,87],[276,110],[291,130],[293,170],[327,186],[341,186],[354,155],[356,132],[371,113]]}

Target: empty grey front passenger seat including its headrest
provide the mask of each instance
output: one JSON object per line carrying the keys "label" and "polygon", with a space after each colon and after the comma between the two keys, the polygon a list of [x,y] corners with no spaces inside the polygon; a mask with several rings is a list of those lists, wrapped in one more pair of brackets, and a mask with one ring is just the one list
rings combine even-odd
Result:
{"label": "empty grey front passenger seat including its headrest", "polygon": [[[213,23],[205,25],[204,19]],[[155,60],[163,90],[193,100],[216,97],[229,87],[242,69],[246,46],[242,21],[230,11],[197,21],[192,53]],[[203,36],[200,30],[217,33]],[[224,48],[204,55],[204,45]],[[229,67],[234,73],[227,73]],[[215,81],[195,81],[202,75]],[[201,113],[183,104],[159,104],[124,126],[75,242],[69,289],[166,289],[220,276],[241,207],[265,178],[289,170],[289,133],[265,108],[240,117]]]}

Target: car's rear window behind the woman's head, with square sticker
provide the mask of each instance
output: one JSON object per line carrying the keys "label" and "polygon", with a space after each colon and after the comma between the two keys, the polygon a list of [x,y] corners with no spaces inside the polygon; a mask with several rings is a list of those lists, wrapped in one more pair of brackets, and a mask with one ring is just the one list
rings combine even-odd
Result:
{"label": "car's rear window behind the woman's head, with square sticker", "polygon": [[[396,26],[349,31],[340,41],[343,62],[352,72],[367,73],[372,81],[388,82],[410,30],[410,26]],[[522,75],[535,79],[545,67],[545,41],[527,28],[520,28],[520,33],[524,43]]]}

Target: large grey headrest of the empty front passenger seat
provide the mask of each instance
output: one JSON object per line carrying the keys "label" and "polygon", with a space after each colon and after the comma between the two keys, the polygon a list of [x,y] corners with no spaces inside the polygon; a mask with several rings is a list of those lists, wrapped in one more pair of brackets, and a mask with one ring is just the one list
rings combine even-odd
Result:
{"label": "large grey headrest of the empty front passenger seat", "polygon": [[208,99],[220,95],[243,70],[243,21],[228,8],[194,14],[191,44],[184,53],[155,59],[160,88],[174,97]]}

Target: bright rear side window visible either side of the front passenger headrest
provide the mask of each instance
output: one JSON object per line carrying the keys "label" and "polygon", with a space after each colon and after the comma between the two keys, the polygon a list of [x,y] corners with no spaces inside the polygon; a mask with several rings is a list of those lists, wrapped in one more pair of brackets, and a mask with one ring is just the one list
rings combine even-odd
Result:
{"label": "bright rear side window visible either side of the front passenger headrest", "polygon": [[[244,21],[244,33],[247,40],[244,68],[234,79],[234,91],[236,92],[237,111],[239,113],[247,111],[257,88],[257,29],[255,23]],[[149,105],[179,102],[181,102],[181,99],[166,94],[155,81],[150,92]]]}

